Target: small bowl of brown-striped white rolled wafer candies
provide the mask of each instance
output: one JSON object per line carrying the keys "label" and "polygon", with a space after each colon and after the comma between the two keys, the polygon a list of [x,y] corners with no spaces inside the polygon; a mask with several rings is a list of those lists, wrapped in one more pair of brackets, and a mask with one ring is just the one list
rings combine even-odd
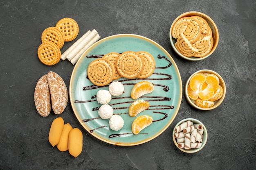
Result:
{"label": "small bowl of brown-striped white rolled wafer candies", "polygon": [[173,142],[185,153],[201,150],[207,142],[207,130],[199,120],[187,118],[181,120],[173,129]]}

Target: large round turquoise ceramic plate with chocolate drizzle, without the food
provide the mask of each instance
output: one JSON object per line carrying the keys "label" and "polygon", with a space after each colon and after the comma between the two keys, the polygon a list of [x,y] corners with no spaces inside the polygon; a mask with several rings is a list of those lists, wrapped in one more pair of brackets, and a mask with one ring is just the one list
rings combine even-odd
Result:
{"label": "large round turquoise ceramic plate with chocolate drizzle, without the food", "polygon": [[[124,85],[125,93],[120,96],[112,96],[108,103],[114,109],[114,114],[124,119],[124,126],[119,131],[113,131],[109,127],[108,119],[101,119],[98,115],[96,94],[100,89],[108,90],[106,86],[95,86],[87,77],[87,67],[97,57],[102,57],[108,52],[122,53],[125,51],[146,51],[153,55],[156,63],[154,73],[145,79],[119,78]],[[149,81],[154,84],[154,91],[139,99],[150,103],[148,110],[139,113],[149,115],[153,123],[139,134],[134,135],[131,125],[136,117],[128,114],[133,100],[130,92],[135,83]],[[103,142],[119,145],[133,146],[148,142],[170,126],[180,108],[182,99],[182,81],[177,65],[168,52],[156,42],[139,35],[120,34],[112,35],[97,41],[77,61],[70,79],[70,102],[76,118],[84,129]]]}

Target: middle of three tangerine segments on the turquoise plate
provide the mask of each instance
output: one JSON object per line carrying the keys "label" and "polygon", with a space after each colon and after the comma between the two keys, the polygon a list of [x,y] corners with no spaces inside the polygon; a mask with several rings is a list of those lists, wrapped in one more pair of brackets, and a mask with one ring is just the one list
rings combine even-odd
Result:
{"label": "middle of three tangerine segments on the turquoise plate", "polygon": [[146,100],[136,100],[130,105],[129,108],[129,115],[134,117],[137,116],[141,111],[144,111],[148,109],[149,107],[149,102]]}

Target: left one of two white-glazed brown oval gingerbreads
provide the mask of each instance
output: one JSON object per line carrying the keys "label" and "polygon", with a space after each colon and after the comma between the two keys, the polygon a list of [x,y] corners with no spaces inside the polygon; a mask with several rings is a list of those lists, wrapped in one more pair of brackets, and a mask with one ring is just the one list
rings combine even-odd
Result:
{"label": "left one of two white-glazed brown oval gingerbreads", "polygon": [[51,112],[51,98],[47,74],[43,75],[36,83],[34,101],[38,113],[43,117],[47,117]]}

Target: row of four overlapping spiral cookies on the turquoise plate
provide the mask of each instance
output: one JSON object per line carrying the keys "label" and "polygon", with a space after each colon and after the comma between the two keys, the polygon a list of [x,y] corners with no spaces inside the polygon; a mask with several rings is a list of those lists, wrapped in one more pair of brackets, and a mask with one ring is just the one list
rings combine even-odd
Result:
{"label": "row of four overlapping spiral cookies on the turquoise plate", "polygon": [[154,57],[145,51],[110,52],[93,60],[87,69],[94,85],[103,86],[118,78],[146,78],[155,70]]}

